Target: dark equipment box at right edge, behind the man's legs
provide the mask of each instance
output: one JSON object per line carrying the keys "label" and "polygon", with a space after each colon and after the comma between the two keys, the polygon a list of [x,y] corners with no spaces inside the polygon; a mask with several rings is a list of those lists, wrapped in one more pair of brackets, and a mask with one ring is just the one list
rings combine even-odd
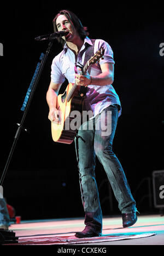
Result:
{"label": "dark equipment box at right edge, behind the man's legs", "polygon": [[154,207],[164,208],[164,170],[153,172]]}

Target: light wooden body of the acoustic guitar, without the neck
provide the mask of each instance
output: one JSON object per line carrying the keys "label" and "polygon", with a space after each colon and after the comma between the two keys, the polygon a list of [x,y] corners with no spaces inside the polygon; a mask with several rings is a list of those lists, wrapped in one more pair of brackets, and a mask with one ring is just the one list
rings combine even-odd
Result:
{"label": "light wooden body of the acoustic guitar, without the neck", "polygon": [[59,122],[51,122],[52,139],[55,142],[71,144],[77,133],[77,129],[72,129],[71,121],[74,119],[70,117],[73,110],[79,111],[82,115],[84,98],[74,95],[73,98],[67,101],[67,96],[71,92],[73,84],[69,83],[65,93],[57,96],[57,110]]}

